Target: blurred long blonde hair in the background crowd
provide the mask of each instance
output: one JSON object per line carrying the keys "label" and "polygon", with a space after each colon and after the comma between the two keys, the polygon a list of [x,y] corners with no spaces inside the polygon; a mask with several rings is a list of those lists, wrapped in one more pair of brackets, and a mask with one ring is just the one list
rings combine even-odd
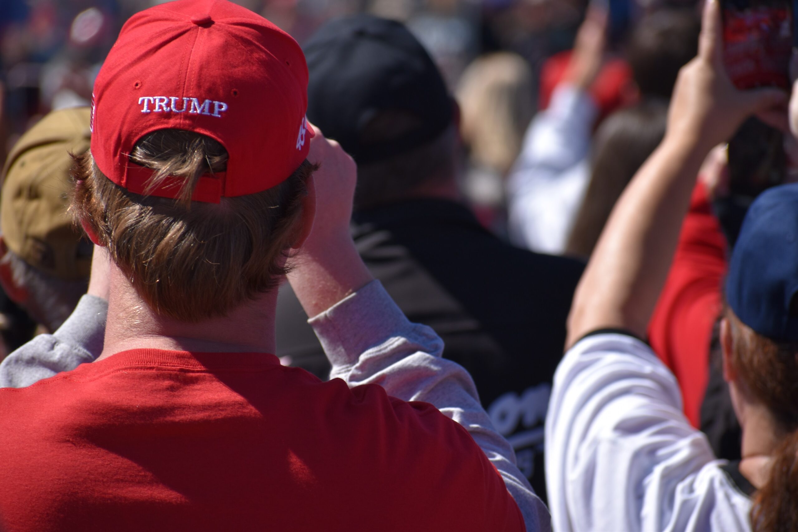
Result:
{"label": "blurred long blonde hair in the background crowd", "polygon": [[531,69],[516,53],[490,53],[468,65],[457,100],[472,163],[507,174],[535,112],[533,93]]}

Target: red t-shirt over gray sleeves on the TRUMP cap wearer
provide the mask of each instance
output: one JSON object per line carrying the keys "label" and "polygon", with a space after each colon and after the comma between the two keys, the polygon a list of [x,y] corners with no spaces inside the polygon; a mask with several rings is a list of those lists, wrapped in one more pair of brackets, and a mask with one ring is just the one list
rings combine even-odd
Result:
{"label": "red t-shirt over gray sleeves on the TRUMP cap wearer", "polygon": [[277,357],[136,349],[0,389],[0,529],[523,530],[464,428]]}

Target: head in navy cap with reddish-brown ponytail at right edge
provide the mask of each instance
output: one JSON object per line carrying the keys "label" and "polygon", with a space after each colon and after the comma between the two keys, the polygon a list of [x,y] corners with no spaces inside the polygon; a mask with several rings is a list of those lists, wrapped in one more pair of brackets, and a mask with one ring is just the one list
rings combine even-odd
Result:
{"label": "head in navy cap with reddish-brown ponytail at right edge", "polygon": [[[773,424],[767,481],[751,511],[754,530],[796,530],[798,506],[798,183],[773,187],[753,202],[729,260],[721,323],[724,375],[735,412],[756,405]],[[760,413],[764,407],[767,413]],[[750,411],[749,411],[750,412]],[[743,432],[753,416],[740,417]],[[764,424],[764,427],[767,427]],[[744,437],[745,440],[745,437]]]}

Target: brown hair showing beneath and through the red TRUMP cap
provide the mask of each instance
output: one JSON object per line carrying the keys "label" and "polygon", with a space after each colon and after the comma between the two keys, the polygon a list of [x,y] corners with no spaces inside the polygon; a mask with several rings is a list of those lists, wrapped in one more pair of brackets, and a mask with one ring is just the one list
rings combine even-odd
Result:
{"label": "brown hair showing beneath and through the red TRUMP cap", "polygon": [[152,132],[130,156],[154,170],[149,187],[184,177],[179,199],[133,194],[105,177],[88,152],[75,159],[75,218],[89,224],[156,313],[180,321],[223,316],[279,284],[317,168],[304,161],[276,187],[215,204],[191,196],[200,176],[226,169],[227,152],[198,133]]}

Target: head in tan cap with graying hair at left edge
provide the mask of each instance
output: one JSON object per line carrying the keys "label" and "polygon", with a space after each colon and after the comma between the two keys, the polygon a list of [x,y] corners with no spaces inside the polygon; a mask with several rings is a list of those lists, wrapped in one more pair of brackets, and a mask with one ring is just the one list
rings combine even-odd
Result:
{"label": "head in tan cap with graying hair at left edge", "polygon": [[36,321],[55,329],[85,294],[91,242],[67,212],[70,153],[89,149],[89,108],[53,111],[18,140],[3,169],[0,281]]}

